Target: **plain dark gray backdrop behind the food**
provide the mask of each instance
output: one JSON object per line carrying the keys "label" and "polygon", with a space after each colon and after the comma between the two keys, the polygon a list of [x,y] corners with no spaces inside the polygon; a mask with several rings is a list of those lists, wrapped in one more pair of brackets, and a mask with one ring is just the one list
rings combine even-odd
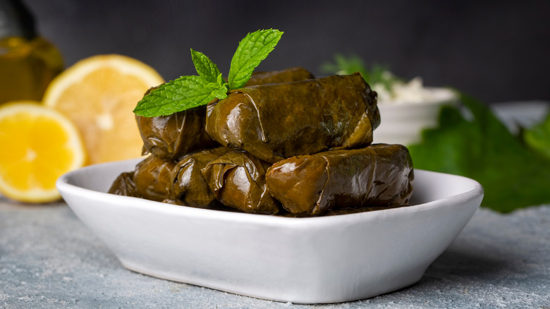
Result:
{"label": "plain dark gray backdrop behind the food", "polygon": [[285,34],[259,70],[319,66],[337,52],[482,99],[550,100],[550,1],[24,0],[66,64],[125,54],[166,80],[195,74],[189,49],[227,73],[247,32]]}

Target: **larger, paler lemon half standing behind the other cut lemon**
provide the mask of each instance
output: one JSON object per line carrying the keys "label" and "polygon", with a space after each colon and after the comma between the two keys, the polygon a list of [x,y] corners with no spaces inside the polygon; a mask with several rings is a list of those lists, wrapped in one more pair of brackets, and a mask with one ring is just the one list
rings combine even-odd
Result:
{"label": "larger, paler lemon half standing behind the other cut lemon", "polygon": [[73,120],[89,164],[139,157],[142,139],[133,109],[143,94],[164,83],[153,68],[121,55],[78,61],[58,75],[43,102]]}

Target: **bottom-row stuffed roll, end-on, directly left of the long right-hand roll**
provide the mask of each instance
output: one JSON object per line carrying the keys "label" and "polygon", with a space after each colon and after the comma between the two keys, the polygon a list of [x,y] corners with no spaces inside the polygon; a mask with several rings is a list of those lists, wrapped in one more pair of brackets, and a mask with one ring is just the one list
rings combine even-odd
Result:
{"label": "bottom-row stuffed roll, end-on, directly left of the long right-hand roll", "polygon": [[254,214],[276,214],[280,205],[267,192],[269,163],[247,152],[231,151],[202,169],[214,196],[222,204]]}

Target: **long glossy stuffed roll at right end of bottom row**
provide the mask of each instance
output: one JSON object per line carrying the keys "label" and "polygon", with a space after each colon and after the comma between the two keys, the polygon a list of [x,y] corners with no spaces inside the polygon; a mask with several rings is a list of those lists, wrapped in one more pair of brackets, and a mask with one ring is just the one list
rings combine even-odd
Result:
{"label": "long glossy stuffed roll at right end of bottom row", "polygon": [[407,148],[386,144],[291,157],[273,164],[266,174],[269,193],[285,210],[301,216],[406,205],[413,180]]}

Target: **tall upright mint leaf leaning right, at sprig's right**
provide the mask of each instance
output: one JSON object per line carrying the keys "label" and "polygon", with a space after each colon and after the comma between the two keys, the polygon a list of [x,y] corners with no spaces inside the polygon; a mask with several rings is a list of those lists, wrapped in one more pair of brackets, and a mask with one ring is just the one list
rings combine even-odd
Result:
{"label": "tall upright mint leaf leaning right, at sprig's right", "polygon": [[262,60],[266,59],[281,40],[282,35],[283,32],[279,30],[258,30],[249,33],[240,41],[237,51],[231,59],[231,68],[229,68],[230,89],[237,89],[245,85],[254,69]]}

